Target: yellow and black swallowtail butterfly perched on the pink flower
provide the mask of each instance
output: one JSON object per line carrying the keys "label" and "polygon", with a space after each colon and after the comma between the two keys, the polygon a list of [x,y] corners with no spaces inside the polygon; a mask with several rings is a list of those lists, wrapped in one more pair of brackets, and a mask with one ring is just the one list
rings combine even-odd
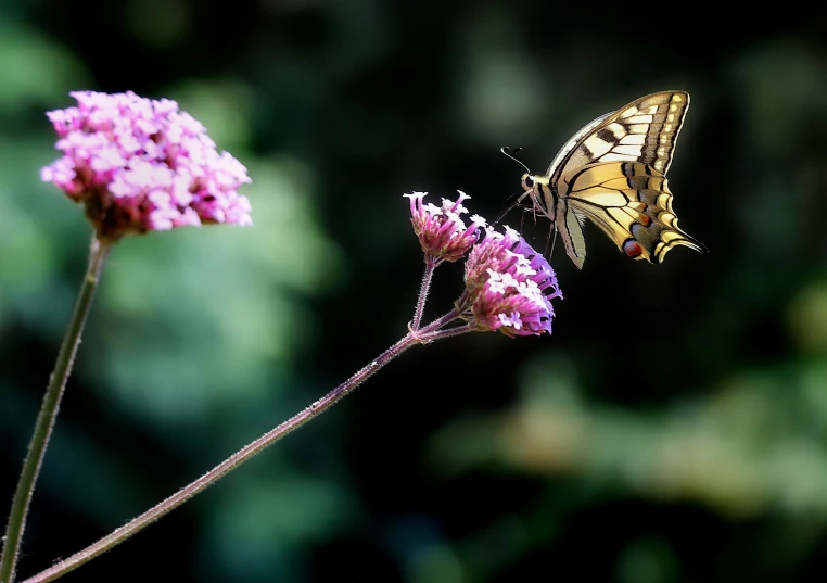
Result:
{"label": "yellow and black swallowtail butterfly perched on the pink flower", "polygon": [[707,252],[677,226],[666,185],[688,107],[689,93],[660,91],[601,115],[562,147],[544,176],[502,149],[526,169],[519,201],[530,197],[554,223],[577,268],[586,259],[586,218],[634,259],[658,264],[677,245]]}

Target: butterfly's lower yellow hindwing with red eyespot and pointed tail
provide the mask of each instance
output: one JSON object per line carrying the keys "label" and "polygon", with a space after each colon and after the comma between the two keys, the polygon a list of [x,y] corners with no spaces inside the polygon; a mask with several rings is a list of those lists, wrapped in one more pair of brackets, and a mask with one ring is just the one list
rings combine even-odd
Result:
{"label": "butterfly's lower yellow hindwing with red eyespot and pointed tail", "polygon": [[582,233],[580,240],[571,235],[569,215],[591,219],[618,249],[634,259],[658,264],[677,245],[707,251],[677,226],[666,177],[647,164],[588,164],[564,174],[561,185],[556,224],[577,267],[585,259],[585,245]]}

